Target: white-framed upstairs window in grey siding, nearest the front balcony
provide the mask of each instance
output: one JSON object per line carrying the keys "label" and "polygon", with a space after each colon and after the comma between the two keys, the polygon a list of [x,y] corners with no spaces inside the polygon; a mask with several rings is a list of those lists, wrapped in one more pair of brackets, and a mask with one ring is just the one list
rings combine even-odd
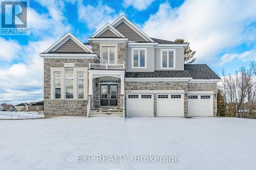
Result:
{"label": "white-framed upstairs window in grey siding, nearest the front balcony", "polygon": [[146,68],[146,48],[132,48],[132,68]]}

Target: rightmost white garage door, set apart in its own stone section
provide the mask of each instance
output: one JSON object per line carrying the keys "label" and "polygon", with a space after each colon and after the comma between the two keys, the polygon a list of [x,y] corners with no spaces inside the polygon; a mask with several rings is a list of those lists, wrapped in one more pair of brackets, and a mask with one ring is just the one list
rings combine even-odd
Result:
{"label": "rightmost white garage door, set apart in its own stone section", "polygon": [[212,94],[189,94],[188,116],[213,116]]}

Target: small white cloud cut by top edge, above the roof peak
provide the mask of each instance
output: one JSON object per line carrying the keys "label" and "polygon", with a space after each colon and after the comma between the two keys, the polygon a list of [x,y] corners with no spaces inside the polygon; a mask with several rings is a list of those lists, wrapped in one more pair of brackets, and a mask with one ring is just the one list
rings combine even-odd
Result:
{"label": "small white cloud cut by top edge, above the roof peak", "polygon": [[123,6],[125,8],[133,6],[133,8],[142,11],[147,9],[155,0],[124,0]]}

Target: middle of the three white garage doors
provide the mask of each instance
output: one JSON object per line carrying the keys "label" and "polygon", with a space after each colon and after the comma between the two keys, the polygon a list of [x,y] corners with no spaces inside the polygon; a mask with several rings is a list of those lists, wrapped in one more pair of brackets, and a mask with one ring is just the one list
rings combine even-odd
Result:
{"label": "middle of the three white garage doors", "polygon": [[184,116],[183,94],[157,94],[157,116]]}

